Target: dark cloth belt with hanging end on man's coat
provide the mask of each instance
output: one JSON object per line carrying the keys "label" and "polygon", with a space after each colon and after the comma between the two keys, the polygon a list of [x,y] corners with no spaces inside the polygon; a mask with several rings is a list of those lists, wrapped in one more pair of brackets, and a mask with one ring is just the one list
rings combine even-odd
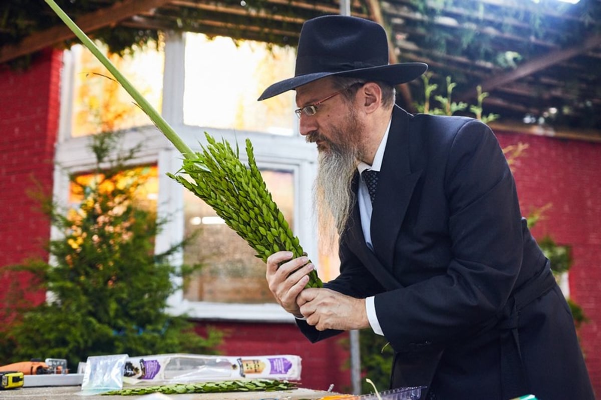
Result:
{"label": "dark cloth belt with hanging end on man's coat", "polygon": [[511,295],[502,312],[498,328],[500,330],[503,399],[523,396],[529,391],[517,332],[519,312],[529,303],[551,291],[555,285],[557,282],[555,282],[555,277],[549,268],[549,262],[547,262],[542,271],[526,281]]}

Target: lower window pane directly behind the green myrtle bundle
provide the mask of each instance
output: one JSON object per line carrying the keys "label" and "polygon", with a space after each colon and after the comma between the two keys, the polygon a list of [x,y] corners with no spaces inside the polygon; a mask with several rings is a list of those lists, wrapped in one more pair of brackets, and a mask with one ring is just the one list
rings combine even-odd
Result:
{"label": "lower window pane directly behind the green myrtle bundle", "polygon": [[[290,171],[262,171],[267,188],[293,228],[294,175]],[[265,264],[215,211],[189,190],[184,190],[185,234],[197,231],[186,247],[186,264],[203,264],[197,276],[186,283],[184,297],[218,303],[275,302],[267,288]]]}

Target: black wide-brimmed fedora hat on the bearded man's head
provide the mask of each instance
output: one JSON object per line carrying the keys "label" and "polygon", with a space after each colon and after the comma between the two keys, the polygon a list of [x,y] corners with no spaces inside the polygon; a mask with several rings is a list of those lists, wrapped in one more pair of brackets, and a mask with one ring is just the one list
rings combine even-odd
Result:
{"label": "black wide-brimmed fedora hat on the bearded man's head", "polygon": [[428,69],[423,62],[388,64],[384,28],[358,17],[327,15],[307,20],[301,29],[294,76],[273,83],[258,100],[338,75],[380,80],[390,85],[409,82]]}

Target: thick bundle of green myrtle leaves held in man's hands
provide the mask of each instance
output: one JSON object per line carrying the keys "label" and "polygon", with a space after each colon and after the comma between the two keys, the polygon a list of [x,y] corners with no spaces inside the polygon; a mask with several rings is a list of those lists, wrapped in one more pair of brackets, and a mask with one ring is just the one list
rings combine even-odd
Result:
{"label": "thick bundle of green myrtle leaves held in man's hands", "polygon": [[[294,258],[302,256],[298,238],[267,190],[251,141],[246,139],[247,167],[240,161],[237,145],[234,151],[227,141],[217,142],[206,132],[205,136],[208,145],[186,157],[182,169],[168,176],[209,204],[263,261],[281,250],[292,252]],[[322,287],[316,271],[309,277],[307,287]]]}

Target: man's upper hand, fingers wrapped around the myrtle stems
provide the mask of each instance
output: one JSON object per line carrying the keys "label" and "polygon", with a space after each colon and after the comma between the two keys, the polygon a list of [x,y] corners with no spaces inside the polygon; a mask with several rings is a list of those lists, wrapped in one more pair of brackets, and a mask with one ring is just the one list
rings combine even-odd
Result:
{"label": "man's upper hand, fingers wrapped around the myrtle stems", "polygon": [[307,274],[315,267],[313,264],[307,264],[309,259],[306,256],[291,258],[291,252],[277,252],[270,255],[267,258],[265,277],[269,290],[279,305],[294,317],[302,318],[296,297],[309,282]]}

